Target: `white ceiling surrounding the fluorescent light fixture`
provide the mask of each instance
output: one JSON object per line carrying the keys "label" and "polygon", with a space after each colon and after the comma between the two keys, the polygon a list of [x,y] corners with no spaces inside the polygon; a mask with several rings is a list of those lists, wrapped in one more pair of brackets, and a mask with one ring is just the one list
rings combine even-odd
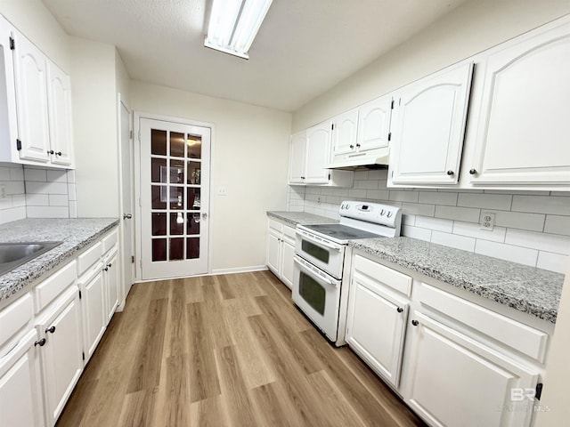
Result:
{"label": "white ceiling surrounding the fluorescent light fixture", "polygon": [[211,0],[43,0],[130,77],[293,111],[466,0],[273,0],[249,60],[204,47]]}

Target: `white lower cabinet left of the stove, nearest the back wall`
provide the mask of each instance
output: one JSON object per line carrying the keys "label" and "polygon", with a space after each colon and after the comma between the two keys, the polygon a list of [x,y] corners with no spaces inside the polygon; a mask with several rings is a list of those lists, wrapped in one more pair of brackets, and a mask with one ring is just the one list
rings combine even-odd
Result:
{"label": "white lower cabinet left of the stove, nearest the back wall", "polygon": [[295,229],[273,219],[267,229],[267,258],[269,270],[281,279],[289,289],[293,286],[293,255],[295,254]]}

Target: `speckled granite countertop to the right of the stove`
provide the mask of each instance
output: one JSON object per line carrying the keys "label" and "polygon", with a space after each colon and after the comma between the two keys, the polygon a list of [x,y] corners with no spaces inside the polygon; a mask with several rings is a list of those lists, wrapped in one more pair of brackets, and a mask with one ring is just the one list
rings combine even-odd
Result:
{"label": "speckled granite countertop to the right of the stove", "polygon": [[556,323],[564,275],[416,238],[349,243],[367,254]]}

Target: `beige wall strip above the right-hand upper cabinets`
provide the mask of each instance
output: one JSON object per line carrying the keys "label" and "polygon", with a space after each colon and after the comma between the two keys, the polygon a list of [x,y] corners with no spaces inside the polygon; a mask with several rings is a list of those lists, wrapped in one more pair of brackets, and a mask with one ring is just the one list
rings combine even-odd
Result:
{"label": "beige wall strip above the right-hand upper cabinets", "polygon": [[293,115],[293,131],[570,13],[568,0],[470,0]]}

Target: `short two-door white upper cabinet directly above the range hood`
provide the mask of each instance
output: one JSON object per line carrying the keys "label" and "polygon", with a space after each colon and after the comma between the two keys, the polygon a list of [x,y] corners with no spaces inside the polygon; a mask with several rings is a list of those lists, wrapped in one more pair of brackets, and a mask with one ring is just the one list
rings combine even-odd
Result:
{"label": "short two-door white upper cabinet directly above the range hood", "polygon": [[333,119],[330,166],[370,165],[388,153],[392,96],[382,96]]}

